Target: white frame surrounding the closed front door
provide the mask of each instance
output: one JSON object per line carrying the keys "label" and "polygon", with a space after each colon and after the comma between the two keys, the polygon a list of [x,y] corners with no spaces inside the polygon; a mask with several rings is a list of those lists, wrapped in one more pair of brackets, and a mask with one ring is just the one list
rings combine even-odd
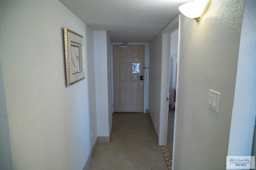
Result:
{"label": "white frame surrounding the closed front door", "polygon": [[[113,71],[113,45],[121,45],[122,43],[111,43],[111,89],[112,89],[112,113],[114,113],[114,71]],[[126,45],[144,45],[144,66],[149,67],[149,43],[127,43]],[[144,70],[144,104],[143,104],[143,113],[146,113],[148,109],[148,84],[149,84],[149,69]]]}

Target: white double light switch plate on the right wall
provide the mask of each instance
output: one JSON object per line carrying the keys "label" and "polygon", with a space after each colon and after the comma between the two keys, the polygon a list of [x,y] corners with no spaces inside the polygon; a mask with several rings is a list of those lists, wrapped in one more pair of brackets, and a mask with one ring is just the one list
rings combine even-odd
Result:
{"label": "white double light switch plate on the right wall", "polygon": [[220,93],[213,90],[209,90],[208,95],[208,107],[219,113],[220,106]]}

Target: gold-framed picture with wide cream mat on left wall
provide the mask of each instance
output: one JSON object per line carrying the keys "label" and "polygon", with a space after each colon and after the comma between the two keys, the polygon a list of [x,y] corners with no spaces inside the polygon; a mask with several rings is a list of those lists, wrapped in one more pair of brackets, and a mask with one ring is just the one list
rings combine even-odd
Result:
{"label": "gold-framed picture with wide cream mat on left wall", "polygon": [[84,38],[64,28],[67,86],[84,79]]}

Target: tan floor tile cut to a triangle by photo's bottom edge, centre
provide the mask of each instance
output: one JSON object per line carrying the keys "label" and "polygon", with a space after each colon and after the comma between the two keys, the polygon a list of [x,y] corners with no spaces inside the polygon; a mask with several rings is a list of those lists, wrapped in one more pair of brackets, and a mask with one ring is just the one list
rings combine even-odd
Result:
{"label": "tan floor tile cut to a triangle by photo's bottom edge, centre", "polygon": [[150,170],[150,168],[127,155],[107,166],[104,170]]}

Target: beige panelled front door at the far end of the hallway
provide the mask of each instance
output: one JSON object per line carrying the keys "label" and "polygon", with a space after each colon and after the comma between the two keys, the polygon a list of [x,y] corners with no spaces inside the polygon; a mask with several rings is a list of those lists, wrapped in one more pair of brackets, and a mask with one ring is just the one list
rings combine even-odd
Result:
{"label": "beige panelled front door at the far end of the hallway", "polygon": [[113,46],[114,112],[143,112],[144,45]]}

